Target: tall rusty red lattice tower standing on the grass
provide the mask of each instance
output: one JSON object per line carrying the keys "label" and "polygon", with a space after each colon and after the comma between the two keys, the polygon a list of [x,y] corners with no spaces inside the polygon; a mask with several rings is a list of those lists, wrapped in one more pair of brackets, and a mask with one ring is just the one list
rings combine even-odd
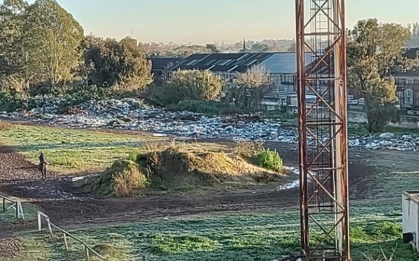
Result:
{"label": "tall rusty red lattice tower standing on the grass", "polygon": [[344,0],[295,0],[301,251],[350,260]]}

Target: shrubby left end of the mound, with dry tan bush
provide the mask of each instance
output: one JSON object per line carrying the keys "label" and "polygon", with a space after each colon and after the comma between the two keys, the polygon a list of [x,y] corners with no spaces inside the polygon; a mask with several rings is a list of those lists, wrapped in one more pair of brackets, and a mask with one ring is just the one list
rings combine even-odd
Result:
{"label": "shrubby left end of the mound, with dry tan bush", "polygon": [[105,172],[85,182],[89,192],[103,196],[135,196],[147,187],[147,178],[138,164],[129,160],[115,161]]}

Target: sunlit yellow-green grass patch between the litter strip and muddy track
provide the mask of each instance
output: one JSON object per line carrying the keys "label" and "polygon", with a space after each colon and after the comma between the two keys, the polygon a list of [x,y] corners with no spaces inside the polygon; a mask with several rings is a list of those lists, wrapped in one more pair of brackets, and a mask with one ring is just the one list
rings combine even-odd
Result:
{"label": "sunlit yellow-green grass patch between the litter strip and muddy track", "polygon": [[103,169],[147,141],[159,138],[25,125],[0,132],[2,144],[14,145],[31,162],[37,164],[39,150],[44,150],[59,173]]}

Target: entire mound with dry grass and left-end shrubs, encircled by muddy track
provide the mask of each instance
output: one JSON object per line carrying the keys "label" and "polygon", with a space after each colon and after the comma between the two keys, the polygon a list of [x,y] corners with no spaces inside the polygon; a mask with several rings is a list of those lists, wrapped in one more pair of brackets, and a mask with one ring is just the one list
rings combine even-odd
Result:
{"label": "entire mound with dry grass and left-end shrubs, encircled by muddy track", "polygon": [[[251,144],[230,150],[200,143],[147,143],[128,159],[115,161],[108,170],[81,182],[91,193],[135,196],[144,191],[184,191],[235,188],[284,181],[281,171],[270,171],[248,161]],[[242,150],[241,153],[237,153]]]}

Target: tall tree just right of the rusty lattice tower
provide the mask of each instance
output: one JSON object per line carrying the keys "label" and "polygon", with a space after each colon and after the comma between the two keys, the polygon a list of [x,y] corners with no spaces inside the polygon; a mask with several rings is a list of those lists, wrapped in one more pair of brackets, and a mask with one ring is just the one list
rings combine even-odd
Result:
{"label": "tall tree just right of the rusty lattice tower", "polygon": [[418,59],[403,56],[410,31],[399,24],[367,19],[359,21],[348,36],[349,84],[365,97],[369,131],[382,131],[397,102],[392,73],[417,65]]}

